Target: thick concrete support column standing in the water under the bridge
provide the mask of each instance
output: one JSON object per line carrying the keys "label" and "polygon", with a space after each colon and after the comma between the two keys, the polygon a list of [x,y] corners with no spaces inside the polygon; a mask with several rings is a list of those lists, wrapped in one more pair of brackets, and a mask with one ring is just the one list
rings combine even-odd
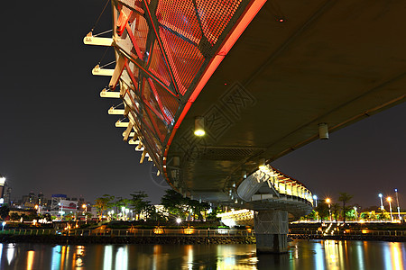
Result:
{"label": "thick concrete support column standing in the water under the bridge", "polygon": [[257,253],[288,252],[288,211],[257,211],[254,229]]}

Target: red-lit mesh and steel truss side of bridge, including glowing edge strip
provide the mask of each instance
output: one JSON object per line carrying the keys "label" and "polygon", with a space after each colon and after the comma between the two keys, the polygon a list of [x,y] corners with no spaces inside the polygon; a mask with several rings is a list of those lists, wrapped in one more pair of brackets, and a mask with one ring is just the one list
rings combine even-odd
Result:
{"label": "red-lit mesh and steel truss side of bridge, including glowing edge strip", "polygon": [[120,77],[110,88],[120,82],[128,118],[164,174],[181,121],[265,1],[112,1]]}

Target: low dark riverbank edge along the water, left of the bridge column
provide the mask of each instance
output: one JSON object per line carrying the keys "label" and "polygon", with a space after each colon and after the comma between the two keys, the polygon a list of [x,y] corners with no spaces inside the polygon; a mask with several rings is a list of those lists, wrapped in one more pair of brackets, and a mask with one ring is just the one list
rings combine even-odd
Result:
{"label": "low dark riverbank edge along the water, left of the bridge column", "polygon": [[102,237],[63,235],[1,235],[2,243],[48,243],[55,245],[85,244],[254,244],[254,237]]}

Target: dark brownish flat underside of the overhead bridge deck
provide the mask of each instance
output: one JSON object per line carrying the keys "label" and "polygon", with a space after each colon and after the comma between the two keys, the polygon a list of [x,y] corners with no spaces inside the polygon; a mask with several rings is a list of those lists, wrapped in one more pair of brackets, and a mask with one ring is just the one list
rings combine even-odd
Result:
{"label": "dark brownish flat underside of the overhead bridge deck", "polygon": [[260,157],[318,139],[320,123],[333,132],[403,102],[404,12],[401,2],[266,2],[182,121],[167,157],[171,184],[230,202]]}

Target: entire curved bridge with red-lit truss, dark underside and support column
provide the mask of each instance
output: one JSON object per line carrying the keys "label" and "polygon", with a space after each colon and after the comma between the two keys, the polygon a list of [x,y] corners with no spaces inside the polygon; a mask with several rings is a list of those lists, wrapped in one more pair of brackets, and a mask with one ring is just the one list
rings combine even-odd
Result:
{"label": "entire curved bridge with red-lit truss, dark underside and support column", "polygon": [[100,96],[122,100],[124,139],[173,189],[256,211],[257,250],[285,252],[287,221],[312,208],[269,164],[401,103],[401,2],[112,0],[115,68]]}

